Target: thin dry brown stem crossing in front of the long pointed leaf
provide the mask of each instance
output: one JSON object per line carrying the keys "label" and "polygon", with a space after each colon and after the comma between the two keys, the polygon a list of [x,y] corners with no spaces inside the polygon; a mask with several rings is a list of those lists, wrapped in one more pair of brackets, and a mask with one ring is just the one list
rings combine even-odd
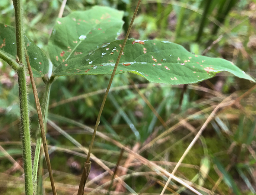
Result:
{"label": "thin dry brown stem crossing in front of the long pointed leaf", "polygon": [[[122,44],[121,50],[120,50],[119,55],[118,55],[118,58],[117,58],[117,60],[116,60],[115,67],[114,67],[114,69],[113,69],[111,78],[110,78],[109,83],[108,83],[108,87],[107,87],[106,93],[105,93],[105,95],[104,95],[102,104],[101,104],[101,106],[100,106],[99,114],[98,114],[98,117],[97,117],[97,120],[96,120],[96,124],[95,124],[94,130],[93,130],[92,140],[91,140],[91,143],[90,143],[90,146],[89,146],[89,151],[88,151],[88,155],[87,155],[87,160],[86,160],[86,162],[84,163],[84,169],[83,169],[83,173],[82,173],[82,176],[81,176],[81,181],[80,181],[80,184],[79,184],[79,189],[78,189],[77,195],[83,195],[84,185],[85,185],[86,180],[87,180],[87,177],[88,177],[88,175],[89,175],[87,168],[89,167],[88,164],[90,163],[90,154],[91,154],[91,152],[92,152],[92,146],[93,146],[93,142],[94,142],[94,139],[95,139],[97,127],[98,127],[98,125],[99,125],[99,123],[100,123],[100,116],[101,116],[101,114],[102,114],[102,110],[103,110],[103,108],[104,108],[104,105],[105,105],[105,102],[106,102],[106,99],[107,99],[107,96],[108,96],[108,92],[109,92],[109,89],[110,89],[110,87],[111,87],[113,78],[114,78],[114,76],[115,76],[115,72],[116,72],[117,66],[118,66],[118,64],[119,64],[119,61],[120,61],[122,52],[124,51],[125,44],[126,44],[126,42],[127,42],[128,36],[129,36],[129,34],[130,34],[132,24],[133,24],[133,22],[134,22],[134,19],[135,19],[135,16],[136,16],[137,12],[138,12],[138,9],[139,9],[139,6],[140,6],[140,2],[141,2],[141,0],[138,0],[137,7],[136,7],[136,9],[135,9],[135,11],[134,11],[134,14],[133,14],[131,23],[130,23],[130,25],[129,25],[129,27],[128,27],[128,31],[127,31],[127,33],[126,33],[126,35],[125,35],[124,43]],[[90,172],[90,170],[89,170],[89,172]]]}

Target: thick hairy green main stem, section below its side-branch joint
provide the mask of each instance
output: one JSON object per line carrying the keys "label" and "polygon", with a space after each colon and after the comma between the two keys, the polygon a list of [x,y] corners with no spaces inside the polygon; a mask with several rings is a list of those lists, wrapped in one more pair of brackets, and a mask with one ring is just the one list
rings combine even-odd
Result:
{"label": "thick hairy green main stem, section below its side-branch joint", "polygon": [[33,179],[32,179],[32,159],[31,159],[31,140],[29,132],[29,116],[28,116],[28,98],[27,86],[24,67],[21,66],[17,70],[19,83],[19,98],[20,98],[20,121],[21,121],[21,136],[23,149],[23,163],[25,172],[25,190],[26,195],[33,194]]}

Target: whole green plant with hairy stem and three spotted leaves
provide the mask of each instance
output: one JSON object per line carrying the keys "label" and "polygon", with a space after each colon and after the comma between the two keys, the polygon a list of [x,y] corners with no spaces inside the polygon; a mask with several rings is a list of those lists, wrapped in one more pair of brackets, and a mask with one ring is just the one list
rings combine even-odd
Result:
{"label": "whole green plant with hairy stem and three spotted leaves", "polygon": [[[45,113],[47,113],[51,83],[63,75],[104,75],[112,74],[115,70],[115,74],[131,72],[151,82],[178,85],[204,81],[214,77],[218,72],[227,71],[239,78],[255,82],[252,77],[230,61],[195,55],[182,46],[169,41],[128,39],[124,47],[124,40],[116,40],[124,23],[122,21],[124,12],[102,6],[94,6],[86,11],[76,11],[67,17],[58,18],[47,45],[48,59],[44,51],[23,34],[21,1],[14,1],[14,6],[16,27],[0,24],[0,57],[18,75],[26,194],[36,194],[37,192],[41,142],[47,148],[45,134],[40,134],[39,131],[32,163],[25,79],[26,64],[28,64],[28,69],[29,64],[31,65],[33,77],[41,77],[45,83],[40,119],[41,129],[43,129],[42,121],[47,118]],[[25,60],[25,53],[27,53],[27,60]],[[33,81],[32,74],[30,74],[31,81]],[[33,87],[35,86],[33,85]],[[39,106],[37,108],[40,115],[41,109]],[[99,113],[102,109],[103,107],[100,108]],[[95,132],[99,119],[100,114]],[[140,139],[140,136],[137,136],[137,139]],[[45,155],[48,155],[46,149]],[[47,162],[49,174],[52,175],[49,161]],[[86,166],[89,167],[90,153],[86,163],[88,164]],[[167,174],[164,171],[163,173]],[[182,182],[176,177],[173,179]],[[80,193],[83,191],[84,182],[81,181]],[[189,189],[200,194],[193,188]],[[55,193],[54,186],[52,186],[52,190]]]}

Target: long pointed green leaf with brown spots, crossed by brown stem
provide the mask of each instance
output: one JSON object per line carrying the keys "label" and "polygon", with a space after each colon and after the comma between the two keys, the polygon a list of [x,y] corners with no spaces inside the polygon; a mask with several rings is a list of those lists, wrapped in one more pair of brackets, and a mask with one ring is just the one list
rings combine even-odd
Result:
{"label": "long pointed green leaf with brown spots, crossed by brown stem", "polygon": [[[112,74],[122,43],[116,40],[89,55],[68,59],[54,75]],[[230,61],[194,55],[180,45],[158,40],[129,39],[116,74],[132,72],[151,82],[177,85],[203,81],[222,71],[255,82]]]}

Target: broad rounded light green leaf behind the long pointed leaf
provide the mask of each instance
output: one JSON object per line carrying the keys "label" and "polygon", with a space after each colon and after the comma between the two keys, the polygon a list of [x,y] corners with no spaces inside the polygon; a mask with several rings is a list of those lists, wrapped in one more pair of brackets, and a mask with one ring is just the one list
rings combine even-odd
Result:
{"label": "broad rounded light green leaf behind the long pointed leaf", "polygon": [[124,12],[110,7],[94,6],[58,18],[52,30],[48,52],[55,67],[67,59],[88,54],[120,34]]}

